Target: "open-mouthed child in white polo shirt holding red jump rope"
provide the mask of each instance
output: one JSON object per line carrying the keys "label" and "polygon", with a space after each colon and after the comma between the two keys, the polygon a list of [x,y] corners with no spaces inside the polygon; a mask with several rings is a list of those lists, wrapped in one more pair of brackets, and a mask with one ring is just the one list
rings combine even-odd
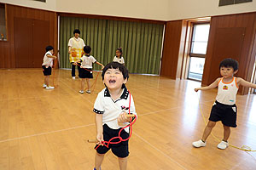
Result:
{"label": "open-mouthed child in white polo shirt holding red jump rope", "polygon": [[[129,111],[129,104],[131,114],[137,115],[132,96],[125,87],[128,77],[127,69],[118,62],[109,63],[102,71],[102,80],[106,88],[98,94],[93,110],[96,113],[96,139],[100,144],[96,145],[95,170],[101,169],[104,155],[110,149],[119,158],[119,169],[124,170],[127,167],[128,140],[119,144],[109,144],[109,147],[101,143],[119,136],[119,130],[129,124],[130,118],[125,116]],[[120,136],[122,139],[129,138],[129,127],[121,131]],[[118,141],[119,139],[112,140]]]}

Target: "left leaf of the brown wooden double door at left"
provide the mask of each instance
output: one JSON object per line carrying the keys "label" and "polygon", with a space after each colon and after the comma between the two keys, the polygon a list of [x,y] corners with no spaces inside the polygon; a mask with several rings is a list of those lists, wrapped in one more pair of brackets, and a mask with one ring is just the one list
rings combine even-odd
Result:
{"label": "left leaf of the brown wooden double door at left", "polygon": [[15,17],[15,67],[33,67],[32,19]]}

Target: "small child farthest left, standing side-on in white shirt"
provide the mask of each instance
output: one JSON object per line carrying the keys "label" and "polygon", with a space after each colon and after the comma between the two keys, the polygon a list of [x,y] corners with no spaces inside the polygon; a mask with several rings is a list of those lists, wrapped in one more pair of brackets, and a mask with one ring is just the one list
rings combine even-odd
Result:
{"label": "small child farthest left, standing side-on in white shirt", "polygon": [[56,59],[56,56],[54,56],[54,48],[52,46],[47,46],[45,48],[46,53],[44,54],[44,59],[43,59],[43,72],[44,72],[44,84],[43,88],[46,89],[54,89],[55,87],[49,86],[49,75],[51,75],[51,67],[53,65],[53,59]]}

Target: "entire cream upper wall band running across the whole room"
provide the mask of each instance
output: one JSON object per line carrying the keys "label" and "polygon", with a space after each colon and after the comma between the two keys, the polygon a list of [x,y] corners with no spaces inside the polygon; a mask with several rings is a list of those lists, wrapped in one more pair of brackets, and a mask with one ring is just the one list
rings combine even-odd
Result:
{"label": "entire cream upper wall band running across the whole room", "polygon": [[148,20],[180,20],[256,12],[256,0],[218,7],[219,0],[1,0],[1,3],[74,14],[99,14]]}

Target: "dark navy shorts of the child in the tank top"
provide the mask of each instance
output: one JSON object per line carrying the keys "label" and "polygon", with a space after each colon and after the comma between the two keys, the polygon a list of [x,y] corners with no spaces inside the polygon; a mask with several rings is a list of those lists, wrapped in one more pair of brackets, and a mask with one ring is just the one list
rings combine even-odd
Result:
{"label": "dark navy shorts of the child in the tank top", "polygon": [[237,107],[235,105],[224,105],[215,101],[212,105],[211,115],[209,121],[221,121],[227,127],[237,127],[236,125]]}

